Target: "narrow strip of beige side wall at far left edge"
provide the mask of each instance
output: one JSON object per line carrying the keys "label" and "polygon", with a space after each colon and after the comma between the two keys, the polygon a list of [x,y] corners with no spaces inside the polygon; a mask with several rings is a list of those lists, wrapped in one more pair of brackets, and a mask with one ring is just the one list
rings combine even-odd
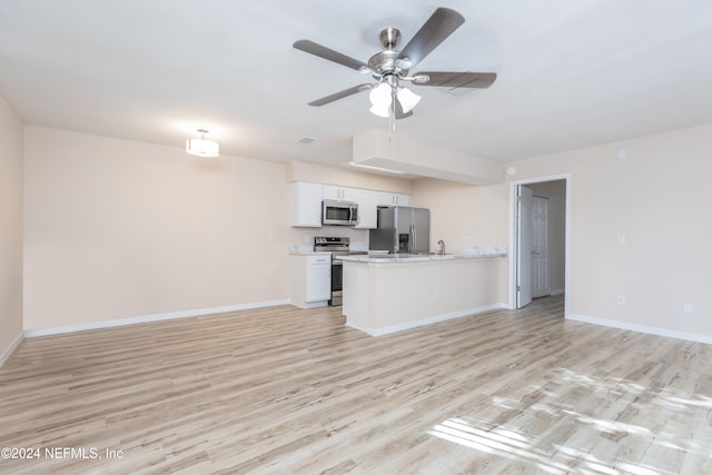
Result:
{"label": "narrow strip of beige side wall at far left edge", "polygon": [[0,96],[0,364],[22,331],[22,123]]}

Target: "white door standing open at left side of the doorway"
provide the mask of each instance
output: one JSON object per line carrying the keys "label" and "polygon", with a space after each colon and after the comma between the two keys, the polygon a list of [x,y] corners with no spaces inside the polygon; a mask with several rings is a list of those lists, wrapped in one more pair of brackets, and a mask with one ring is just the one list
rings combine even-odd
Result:
{"label": "white door standing open at left side of the doorway", "polygon": [[516,308],[525,307],[532,303],[533,208],[534,191],[531,188],[518,185],[516,210]]}

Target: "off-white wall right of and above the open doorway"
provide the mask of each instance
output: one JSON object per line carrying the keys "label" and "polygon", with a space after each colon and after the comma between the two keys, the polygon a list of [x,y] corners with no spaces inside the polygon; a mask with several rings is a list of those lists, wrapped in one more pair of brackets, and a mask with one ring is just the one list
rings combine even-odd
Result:
{"label": "off-white wall right of and above the open doorway", "polygon": [[712,337],[712,125],[510,165],[512,179],[572,174],[572,317]]}

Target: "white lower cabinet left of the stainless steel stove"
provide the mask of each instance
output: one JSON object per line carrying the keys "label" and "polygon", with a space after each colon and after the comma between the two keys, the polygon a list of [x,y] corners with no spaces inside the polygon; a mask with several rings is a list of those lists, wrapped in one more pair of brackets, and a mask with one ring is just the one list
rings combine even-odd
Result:
{"label": "white lower cabinet left of the stainless steel stove", "polygon": [[297,307],[328,305],[332,298],[332,255],[289,256],[289,288],[291,303]]}

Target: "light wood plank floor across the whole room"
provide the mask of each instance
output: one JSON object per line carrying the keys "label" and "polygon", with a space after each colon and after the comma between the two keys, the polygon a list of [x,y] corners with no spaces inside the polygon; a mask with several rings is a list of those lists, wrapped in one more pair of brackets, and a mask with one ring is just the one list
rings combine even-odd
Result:
{"label": "light wood plank floor across the whole room", "polygon": [[712,346],[566,321],[561,297],[378,338],[344,321],[285,306],[27,339],[0,447],[40,456],[0,473],[712,473]]}

